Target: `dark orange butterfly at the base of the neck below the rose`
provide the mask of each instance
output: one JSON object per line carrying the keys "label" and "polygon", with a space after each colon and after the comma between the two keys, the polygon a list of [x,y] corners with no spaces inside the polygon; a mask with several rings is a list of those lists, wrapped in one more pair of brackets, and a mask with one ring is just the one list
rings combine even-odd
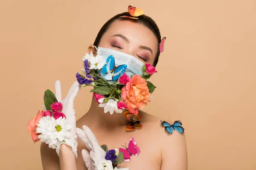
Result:
{"label": "dark orange butterfly at the base of the neck below the rose", "polygon": [[[140,124],[141,121],[141,115],[140,113],[138,113],[137,115],[130,113],[129,111],[124,111],[124,115],[125,117],[131,121],[128,122],[125,127],[125,130],[127,131],[131,131],[131,130],[135,130],[135,129],[141,129],[142,128],[142,124]],[[127,121],[125,121],[127,122]]]}

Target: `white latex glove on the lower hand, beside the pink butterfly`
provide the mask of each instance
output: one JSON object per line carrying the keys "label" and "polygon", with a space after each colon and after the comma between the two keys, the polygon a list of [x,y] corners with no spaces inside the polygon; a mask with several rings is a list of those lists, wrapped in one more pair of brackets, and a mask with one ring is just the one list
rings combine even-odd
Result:
{"label": "white latex glove on the lower hand, beside the pink butterfly", "polygon": [[[97,165],[101,159],[105,159],[106,152],[99,146],[99,143],[90,128],[85,125],[82,128],[83,130],[76,128],[76,133],[78,138],[90,150],[90,153],[86,149],[82,150],[84,163],[88,170],[101,170],[97,169]],[[117,169],[118,168],[115,168],[114,170]],[[121,168],[118,170],[129,170],[129,168]]]}

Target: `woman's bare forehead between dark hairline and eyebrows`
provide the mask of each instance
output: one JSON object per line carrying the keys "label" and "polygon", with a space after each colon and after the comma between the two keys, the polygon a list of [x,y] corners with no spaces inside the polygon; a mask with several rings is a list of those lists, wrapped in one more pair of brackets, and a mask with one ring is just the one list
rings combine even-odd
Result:
{"label": "woman's bare forehead between dark hairline and eyebrows", "polygon": [[144,45],[153,50],[154,56],[157,53],[157,37],[148,27],[144,26],[143,24],[134,22],[133,20],[116,20],[102,36],[102,40],[105,38],[109,39],[115,34],[122,34],[128,38],[130,41],[129,44],[134,47]]}

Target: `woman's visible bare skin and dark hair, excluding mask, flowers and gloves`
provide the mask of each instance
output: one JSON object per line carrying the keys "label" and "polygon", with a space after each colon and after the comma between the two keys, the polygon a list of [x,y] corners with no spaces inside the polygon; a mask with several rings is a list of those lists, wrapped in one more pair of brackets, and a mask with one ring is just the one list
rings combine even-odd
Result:
{"label": "woman's visible bare skin and dark hair, excluding mask, flowers and gloves", "polygon": [[[130,54],[143,63],[156,66],[161,42],[160,31],[156,23],[144,14],[137,17],[138,20],[122,16],[129,16],[129,13],[118,14],[105,23],[93,45],[88,47],[88,54],[92,52],[95,56],[99,47],[108,48]],[[76,93],[79,91],[77,87]],[[75,96],[76,94],[73,95],[73,99]],[[92,100],[89,111],[76,122],[76,127],[86,130],[86,127],[83,127],[86,125],[92,130],[100,145],[106,144],[112,149],[125,145],[133,137],[141,153],[139,156],[131,156],[129,162],[119,164],[121,167],[129,167],[131,170],[186,170],[187,155],[184,134],[175,131],[169,135],[163,130],[160,119],[143,111],[139,112],[143,117],[141,120],[143,128],[127,132],[125,131],[126,118],[122,113],[113,115],[104,113],[104,109],[99,107],[98,102]],[[76,160],[70,146],[61,144],[58,157],[55,150],[42,143],[41,158],[44,170],[87,169],[82,150],[87,149],[90,152],[90,149],[81,140],[77,142],[78,157]],[[83,150],[83,153],[87,152]],[[96,165],[90,168],[95,169]]]}

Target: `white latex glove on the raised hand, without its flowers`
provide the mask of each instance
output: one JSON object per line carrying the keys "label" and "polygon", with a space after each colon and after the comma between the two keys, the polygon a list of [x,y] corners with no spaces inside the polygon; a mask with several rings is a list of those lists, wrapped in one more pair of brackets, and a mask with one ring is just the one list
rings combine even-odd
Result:
{"label": "white latex glove on the raised hand, without its flowers", "polygon": [[[61,102],[63,105],[62,113],[65,114],[67,124],[72,127],[72,129],[69,130],[70,137],[66,142],[61,142],[57,148],[56,152],[59,155],[60,145],[61,144],[67,144],[72,147],[73,153],[75,154],[75,158],[77,158],[77,135],[76,135],[76,112],[74,109],[74,99],[77,96],[78,92],[81,89],[81,85],[78,82],[74,82],[71,86],[70,90],[67,93],[67,96],[65,99],[62,100],[61,98],[61,82],[57,80],[55,82],[55,97],[58,100],[58,102]],[[62,100],[62,101],[61,101]],[[45,106],[43,105],[43,108],[46,110]]]}

